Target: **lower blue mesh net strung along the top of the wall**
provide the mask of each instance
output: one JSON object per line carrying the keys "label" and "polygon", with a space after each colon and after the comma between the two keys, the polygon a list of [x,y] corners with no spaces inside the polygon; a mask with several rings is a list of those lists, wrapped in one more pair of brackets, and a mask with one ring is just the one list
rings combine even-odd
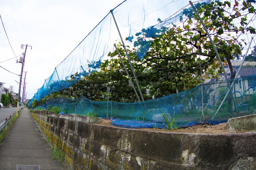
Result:
{"label": "lower blue mesh net strung along the top of the wall", "polygon": [[[256,110],[256,75],[234,80],[233,96],[227,95],[227,83],[233,81],[214,81],[200,85],[194,89],[164,96],[145,102],[117,103],[94,102],[84,96],[79,100],[74,98],[54,98],[41,107],[61,107],[67,114],[86,115],[96,113],[98,117],[119,118],[123,120],[140,120],[144,122],[164,122],[163,115],[177,117],[176,122],[187,124],[191,122],[225,122],[232,117],[251,115]],[[225,96],[224,104],[216,114]]]}

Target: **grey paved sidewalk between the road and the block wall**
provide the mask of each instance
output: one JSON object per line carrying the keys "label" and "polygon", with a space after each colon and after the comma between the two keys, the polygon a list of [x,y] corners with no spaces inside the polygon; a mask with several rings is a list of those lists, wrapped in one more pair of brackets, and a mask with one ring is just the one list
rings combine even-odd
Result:
{"label": "grey paved sidewalk between the road and the block wall", "polygon": [[39,165],[41,170],[66,169],[51,157],[51,146],[45,142],[36,121],[27,108],[20,112],[10,133],[1,141],[0,170],[14,169],[17,165]]}

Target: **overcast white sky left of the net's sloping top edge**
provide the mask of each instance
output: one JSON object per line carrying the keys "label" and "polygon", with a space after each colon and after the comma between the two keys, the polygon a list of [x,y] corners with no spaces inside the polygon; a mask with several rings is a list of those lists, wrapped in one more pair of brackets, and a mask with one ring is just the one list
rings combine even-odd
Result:
{"label": "overcast white sky left of the net's sloping top edge", "polygon": [[[108,12],[123,0],[0,0],[0,82],[18,93],[20,55],[28,44],[25,72],[27,99],[31,99],[54,68],[84,39]],[[5,31],[4,31],[5,28]],[[9,41],[7,39],[7,36]],[[21,45],[23,48],[21,48]],[[32,49],[31,47],[32,46]],[[13,51],[12,51],[13,49]],[[7,60],[7,61],[6,61]],[[22,96],[22,94],[20,95]]]}

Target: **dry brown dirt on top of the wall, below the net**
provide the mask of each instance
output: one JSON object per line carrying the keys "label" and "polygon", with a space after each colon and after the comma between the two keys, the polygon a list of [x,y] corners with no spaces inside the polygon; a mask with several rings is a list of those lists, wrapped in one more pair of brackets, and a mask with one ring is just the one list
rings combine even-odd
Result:
{"label": "dry brown dirt on top of the wall, below the net", "polygon": [[[111,120],[102,119],[101,124],[106,126],[113,126],[110,124]],[[228,131],[227,123],[221,123],[217,125],[195,125],[188,128],[178,128],[174,130],[157,129],[157,128],[144,128],[137,129],[141,131],[163,131],[163,132],[180,132],[180,133],[244,133],[244,131]]]}

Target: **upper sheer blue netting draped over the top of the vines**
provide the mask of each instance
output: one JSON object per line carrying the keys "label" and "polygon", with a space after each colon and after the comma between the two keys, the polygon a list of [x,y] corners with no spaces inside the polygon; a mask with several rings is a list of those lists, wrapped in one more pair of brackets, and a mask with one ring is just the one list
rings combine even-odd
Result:
{"label": "upper sheer blue netting draped over the top of the vines", "polygon": [[[200,8],[201,5],[210,2],[210,0],[197,1],[196,6]],[[165,33],[173,25],[181,23],[184,18],[192,17],[192,8],[185,0],[178,2],[126,0],[111,11],[119,22],[118,25],[121,25],[119,28],[123,38],[128,37],[127,45],[136,48],[140,59],[151,46],[151,38]],[[99,69],[101,61],[107,57],[116,39],[120,37],[113,21],[111,24],[111,12],[109,12],[55,67],[52,75],[44,81],[33,98],[39,101],[53,92],[72,86],[81,78]]]}

